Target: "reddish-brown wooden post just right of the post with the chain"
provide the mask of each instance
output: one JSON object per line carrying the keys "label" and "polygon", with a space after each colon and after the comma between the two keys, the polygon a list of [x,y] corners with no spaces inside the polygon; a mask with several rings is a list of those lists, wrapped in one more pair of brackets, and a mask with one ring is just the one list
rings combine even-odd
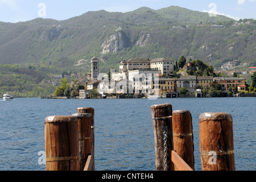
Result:
{"label": "reddish-brown wooden post just right of the post with the chain", "polygon": [[[189,110],[172,112],[173,150],[191,167],[195,169],[192,117]],[[178,171],[175,166],[175,171]]]}

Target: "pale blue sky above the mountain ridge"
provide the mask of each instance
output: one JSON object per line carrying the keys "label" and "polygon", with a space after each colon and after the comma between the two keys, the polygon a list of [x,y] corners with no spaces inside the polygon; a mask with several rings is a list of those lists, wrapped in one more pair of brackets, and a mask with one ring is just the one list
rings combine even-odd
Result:
{"label": "pale blue sky above the mountain ridge", "polygon": [[35,18],[65,20],[88,11],[125,13],[143,6],[154,10],[180,6],[236,20],[256,19],[256,0],[0,0],[0,22],[26,22]]}

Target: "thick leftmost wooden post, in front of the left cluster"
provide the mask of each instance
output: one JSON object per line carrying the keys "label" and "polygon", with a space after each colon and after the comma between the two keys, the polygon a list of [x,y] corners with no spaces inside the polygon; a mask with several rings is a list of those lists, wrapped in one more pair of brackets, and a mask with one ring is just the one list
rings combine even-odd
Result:
{"label": "thick leftmost wooden post, in front of the left cluster", "polygon": [[44,123],[46,171],[79,171],[77,118],[51,116]]}

